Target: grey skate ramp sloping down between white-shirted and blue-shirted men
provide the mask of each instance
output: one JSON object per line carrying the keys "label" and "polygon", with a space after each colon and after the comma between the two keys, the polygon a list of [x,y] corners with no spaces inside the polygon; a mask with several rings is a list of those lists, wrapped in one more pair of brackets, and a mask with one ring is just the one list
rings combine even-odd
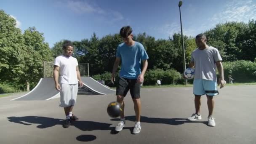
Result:
{"label": "grey skate ramp sloping down between white-shirted and blue-shirted men", "polygon": [[115,90],[94,80],[92,77],[81,77],[83,87],[90,89],[95,94],[115,94]]}

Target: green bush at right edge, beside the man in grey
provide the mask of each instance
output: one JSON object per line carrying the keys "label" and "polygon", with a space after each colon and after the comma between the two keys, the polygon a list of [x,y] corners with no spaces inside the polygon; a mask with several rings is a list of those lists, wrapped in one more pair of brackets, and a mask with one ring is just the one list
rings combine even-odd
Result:
{"label": "green bush at right edge, beside the man in grey", "polygon": [[237,83],[256,82],[256,62],[252,61],[227,61],[223,62],[224,77],[228,81],[231,75]]}

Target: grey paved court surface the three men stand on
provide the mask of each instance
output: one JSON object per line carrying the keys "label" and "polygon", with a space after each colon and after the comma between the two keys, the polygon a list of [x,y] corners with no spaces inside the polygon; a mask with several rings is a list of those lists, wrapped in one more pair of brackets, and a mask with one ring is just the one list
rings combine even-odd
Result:
{"label": "grey paved court surface the three men stand on", "polygon": [[137,135],[131,134],[135,117],[130,95],[125,98],[126,125],[119,133],[113,131],[117,119],[107,115],[113,95],[78,96],[74,114],[80,121],[69,128],[62,128],[65,115],[59,99],[3,97],[0,144],[256,144],[256,85],[227,86],[219,92],[216,127],[209,127],[205,97],[202,120],[186,120],[195,111],[192,87],[142,88],[142,129]]}

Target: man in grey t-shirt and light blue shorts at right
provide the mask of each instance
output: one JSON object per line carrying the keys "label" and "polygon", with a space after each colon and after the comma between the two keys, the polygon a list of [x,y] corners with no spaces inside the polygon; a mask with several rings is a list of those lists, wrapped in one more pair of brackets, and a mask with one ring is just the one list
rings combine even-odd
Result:
{"label": "man in grey t-shirt and light blue shorts at right", "polygon": [[219,72],[218,85],[223,88],[226,84],[224,80],[224,70],[222,66],[222,59],[217,48],[208,46],[206,44],[207,37],[205,34],[196,36],[196,44],[198,48],[192,52],[189,67],[195,66],[195,77],[193,82],[193,93],[195,94],[195,113],[192,114],[188,120],[201,120],[200,115],[200,98],[206,94],[208,105],[208,125],[215,126],[215,120],[212,117],[214,101],[213,97],[218,95],[216,66]]}

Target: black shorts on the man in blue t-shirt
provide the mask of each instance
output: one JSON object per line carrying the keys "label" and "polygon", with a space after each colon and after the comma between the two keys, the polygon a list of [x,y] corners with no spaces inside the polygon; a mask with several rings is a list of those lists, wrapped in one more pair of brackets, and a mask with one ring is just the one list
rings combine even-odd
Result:
{"label": "black shorts on the man in blue t-shirt", "polygon": [[126,96],[129,90],[133,99],[140,98],[141,84],[137,79],[119,77],[116,95]]}

